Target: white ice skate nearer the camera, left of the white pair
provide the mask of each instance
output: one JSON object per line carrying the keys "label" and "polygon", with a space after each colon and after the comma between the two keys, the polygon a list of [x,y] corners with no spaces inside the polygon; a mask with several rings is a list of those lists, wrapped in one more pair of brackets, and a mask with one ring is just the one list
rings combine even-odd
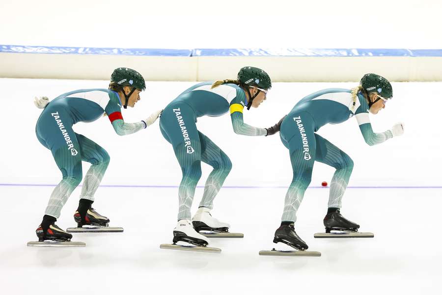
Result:
{"label": "white ice skate nearer the camera, left of the white pair", "polygon": [[[186,242],[189,245],[177,245],[177,242]],[[198,234],[194,229],[189,219],[182,219],[173,229],[173,244],[161,244],[162,249],[176,249],[186,251],[200,251],[200,252],[221,252],[221,249],[207,247],[209,239]]]}

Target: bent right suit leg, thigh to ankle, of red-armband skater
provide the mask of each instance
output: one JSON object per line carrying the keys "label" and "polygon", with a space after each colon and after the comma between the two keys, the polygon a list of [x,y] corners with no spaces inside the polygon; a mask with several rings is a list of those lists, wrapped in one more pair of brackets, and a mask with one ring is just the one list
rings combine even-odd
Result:
{"label": "bent right suit leg, thigh to ankle, of red-armband skater", "polygon": [[80,199],[94,201],[94,194],[103,179],[111,158],[104,148],[87,137],[77,133],[76,136],[80,144],[82,160],[92,164],[84,176]]}

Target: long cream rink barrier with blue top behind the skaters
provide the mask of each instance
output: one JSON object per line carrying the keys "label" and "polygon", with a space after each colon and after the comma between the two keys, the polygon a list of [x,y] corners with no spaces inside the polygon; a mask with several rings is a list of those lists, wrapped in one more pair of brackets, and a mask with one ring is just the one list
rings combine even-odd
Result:
{"label": "long cream rink barrier with blue top behind the skaters", "polygon": [[116,67],[148,81],[235,78],[246,65],[274,82],[359,81],[378,73],[390,81],[442,81],[442,50],[408,49],[118,49],[0,45],[1,78],[108,80]]}

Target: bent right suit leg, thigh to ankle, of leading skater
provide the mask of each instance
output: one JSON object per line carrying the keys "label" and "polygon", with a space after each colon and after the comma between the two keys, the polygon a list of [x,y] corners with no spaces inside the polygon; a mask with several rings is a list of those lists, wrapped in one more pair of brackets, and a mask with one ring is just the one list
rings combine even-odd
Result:
{"label": "bent right suit leg, thigh to ankle, of leading skater", "polygon": [[318,134],[315,134],[315,138],[316,161],[336,169],[330,183],[329,207],[340,208],[342,207],[342,196],[347,189],[353,171],[353,160]]}

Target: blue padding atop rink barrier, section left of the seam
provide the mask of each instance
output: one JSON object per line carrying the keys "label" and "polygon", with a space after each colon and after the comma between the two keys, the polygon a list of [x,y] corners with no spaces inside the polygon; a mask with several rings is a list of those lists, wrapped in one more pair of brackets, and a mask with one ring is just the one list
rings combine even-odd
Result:
{"label": "blue padding atop rink barrier, section left of the seam", "polygon": [[60,47],[60,46],[21,46],[0,45],[4,53],[44,53],[44,54],[80,54],[80,55],[123,55],[146,57],[190,57],[190,49],[145,49],[145,48],[96,48],[96,47]]}

